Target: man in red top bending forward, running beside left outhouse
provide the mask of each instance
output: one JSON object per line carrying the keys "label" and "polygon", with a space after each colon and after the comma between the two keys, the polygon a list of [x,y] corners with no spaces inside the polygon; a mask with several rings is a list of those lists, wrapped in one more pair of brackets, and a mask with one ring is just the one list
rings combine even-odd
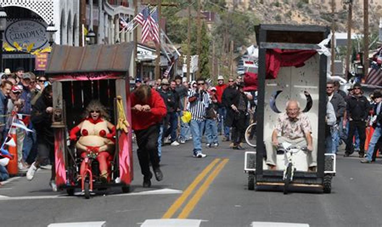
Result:
{"label": "man in red top bending forward, running beside left outhouse", "polygon": [[159,93],[147,85],[141,85],[130,95],[131,122],[138,144],[138,160],[143,174],[143,187],[151,186],[151,162],[157,181],[163,179],[159,168],[159,122],[167,114],[166,105]]}

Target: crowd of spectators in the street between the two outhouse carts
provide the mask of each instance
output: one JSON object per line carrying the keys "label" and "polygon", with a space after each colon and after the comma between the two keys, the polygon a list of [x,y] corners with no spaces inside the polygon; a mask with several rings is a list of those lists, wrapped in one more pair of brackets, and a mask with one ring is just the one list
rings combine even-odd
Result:
{"label": "crowd of spectators in the street between the two outhouse carts", "polygon": [[[256,92],[244,89],[251,84],[245,84],[241,76],[228,81],[219,76],[215,86],[205,79],[187,81],[181,76],[173,80],[135,80],[135,88],[142,84],[158,91],[167,107],[167,115],[159,123],[159,160],[162,146],[180,146],[189,140],[193,141],[193,156],[206,157],[202,141],[207,148],[217,148],[219,135],[223,135],[223,141],[232,142],[231,148],[244,149],[244,131],[253,119]],[[188,122],[181,120],[185,113],[191,115]]]}

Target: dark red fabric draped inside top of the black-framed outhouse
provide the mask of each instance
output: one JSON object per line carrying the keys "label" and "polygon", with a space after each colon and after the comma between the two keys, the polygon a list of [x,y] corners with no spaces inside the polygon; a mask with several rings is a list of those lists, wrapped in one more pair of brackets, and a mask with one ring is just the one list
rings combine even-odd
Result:
{"label": "dark red fabric draped inside top of the black-framed outhouse", "polygon": [[304,62],[315,55],[316,50],[268,49],[265,54],[266,79],[276,79],[280,67],[304,66]]}

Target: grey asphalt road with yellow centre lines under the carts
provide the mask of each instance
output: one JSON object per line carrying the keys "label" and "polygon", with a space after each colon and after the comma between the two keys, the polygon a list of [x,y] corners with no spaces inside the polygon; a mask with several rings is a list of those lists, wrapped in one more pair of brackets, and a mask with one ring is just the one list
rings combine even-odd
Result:
{"label": "grey asphalt road with yellow centre lines under the carts", "polygon": [[64,191],[55,193],[48,185],[49,170],[39,170],[32,182],[24,177],[11,178],[0,186],[0,226],[75,226],[73,222],[131,227],[248,227],[253,222],[382,225],[382,161],[361,164],[358,157],[340,155],[331,194],[296,190],[283,195],[281,188],[247,190],[244,151],[229,149],[227,142],[204,151],[208,156],[196,159],[191,142],[164,146],[164,179],[152,180],[149,189],[142,188],[134,152],[135,176],[128,194],[122,194],[120,188],[97,191],[91,199],[69,197]]}

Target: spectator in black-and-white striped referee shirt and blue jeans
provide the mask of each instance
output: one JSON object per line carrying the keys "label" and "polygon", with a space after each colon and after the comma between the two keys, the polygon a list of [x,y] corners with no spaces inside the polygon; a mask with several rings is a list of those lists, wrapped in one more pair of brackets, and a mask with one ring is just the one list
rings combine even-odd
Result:
{"label": "spectator in black-and-white striped referee shirt and blue jeans", "polygon": [[190,122],[192,139],[194,143],[194,157],[203,158],[206,154],[202,153],[202,130],[204,128],[206,109],[210,104],[209,94],[204,91],[204,79],[197,79],[197,89],[189,94],[189,111],[192,119]]}

